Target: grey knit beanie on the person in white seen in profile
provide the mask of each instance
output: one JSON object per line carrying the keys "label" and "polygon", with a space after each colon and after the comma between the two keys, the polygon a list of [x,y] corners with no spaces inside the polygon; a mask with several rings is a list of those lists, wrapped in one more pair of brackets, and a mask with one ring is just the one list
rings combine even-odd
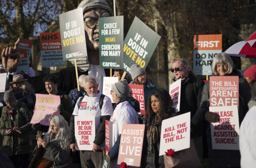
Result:
{"label": "grey knit beanie on the person in white seen in profile", "polygon": [[120,98],[127,97],[130,94],[130,87],[125,79],[113,84],[111,89],[116,92],[117,96]]}

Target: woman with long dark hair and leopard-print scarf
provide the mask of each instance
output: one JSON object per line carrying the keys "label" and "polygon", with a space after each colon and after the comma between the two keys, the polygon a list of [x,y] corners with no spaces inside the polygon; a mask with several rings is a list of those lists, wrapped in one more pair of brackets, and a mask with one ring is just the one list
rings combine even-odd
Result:
{"label": "woman with long dark hair and leopard-print scarf", "polygon": [[[175,116],[175,109],[172,108],[170,94],[164,90],[154,90],[149,94],[148,108],[146,110],[146,137],[144,147],[147,146],[146,164],[148,168],[164,168],[164,157],[159,156],[160,135],[162,120]],[[168,149],[166,149],[167,152]],[[144,151],[145,155],[146,152]]]}

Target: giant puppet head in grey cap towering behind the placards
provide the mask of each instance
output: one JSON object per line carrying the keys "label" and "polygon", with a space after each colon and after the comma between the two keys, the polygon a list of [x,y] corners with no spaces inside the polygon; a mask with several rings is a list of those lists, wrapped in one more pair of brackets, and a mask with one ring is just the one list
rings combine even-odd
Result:
{"label": "giant puppet head in grey cap towering behind the placards", "polygon": [[[112,10],[105,0],[83,0],[77,8],[82,8],[84,14],[84,30],[88,60],[87,57],[77,58],[76,64],[80,72],[88,70],[88,75],[93,75],[97,78],[99,84],[98,90],[102,92],[103,77],[106,76],[106,74],[104,69],[99,66],[100,44],[98,19],[112,16]],[[74,60],[70,60],[70,62],[74,65]]]}

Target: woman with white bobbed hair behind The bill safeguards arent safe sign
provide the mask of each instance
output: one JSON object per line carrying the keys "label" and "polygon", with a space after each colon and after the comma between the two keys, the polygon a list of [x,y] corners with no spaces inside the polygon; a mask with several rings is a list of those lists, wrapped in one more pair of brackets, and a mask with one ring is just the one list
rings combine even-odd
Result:
{"label": "woman with white bobbed hair behind The bill safeguards arent safe sign", "polygon": [[[224,52],[217,54],[212,62],[213,76],[239,76],[239,124],[246,112],[248,111],[248,102],[250,100],[250,86],[248,82],[242,78],[240,72],[236,70],[230,56]],[[239,167],[240,166],[240,153],[237,150],[212,150],[212,137],[210,130],[210,122],[216,122],[218,114],[209,112],[210,106],[210,82],[204,85],[202,91],[202,99],[200,106],[200,117],[203,120],[208,121],[206,128],[207,144],[208,144],[208,156],[211,166],[217,167]]]}

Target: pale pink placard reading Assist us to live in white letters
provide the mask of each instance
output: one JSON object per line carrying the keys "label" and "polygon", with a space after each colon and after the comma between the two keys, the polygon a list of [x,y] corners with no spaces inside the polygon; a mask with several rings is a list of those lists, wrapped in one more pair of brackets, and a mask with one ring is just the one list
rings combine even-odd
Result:
{"label": "pale pink placard reading Assist us to live in white letters", "polygon": [[140,167],[145,124],[123,124],[117,164]]}

